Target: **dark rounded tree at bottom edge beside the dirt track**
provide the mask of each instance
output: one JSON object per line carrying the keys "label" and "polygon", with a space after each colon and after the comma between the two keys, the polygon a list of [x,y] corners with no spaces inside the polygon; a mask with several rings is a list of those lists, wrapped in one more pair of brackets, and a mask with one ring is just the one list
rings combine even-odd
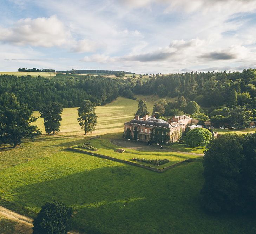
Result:
{"label": "dark rounded tree at bottom edge beside the dirt track", "polygon": [[59,201],[47,202],[33,221],[33,234],[66,234],[71,219],[71,207]]}

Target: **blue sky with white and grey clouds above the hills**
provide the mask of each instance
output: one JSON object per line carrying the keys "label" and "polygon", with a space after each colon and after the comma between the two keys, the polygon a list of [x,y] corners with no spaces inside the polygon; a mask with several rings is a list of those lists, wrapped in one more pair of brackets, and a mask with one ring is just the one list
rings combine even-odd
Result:
{"label": "blue sky with white and grey clouds above the hills", "polygon": [[1,0],[0,71],[256,67],[255,0]]}

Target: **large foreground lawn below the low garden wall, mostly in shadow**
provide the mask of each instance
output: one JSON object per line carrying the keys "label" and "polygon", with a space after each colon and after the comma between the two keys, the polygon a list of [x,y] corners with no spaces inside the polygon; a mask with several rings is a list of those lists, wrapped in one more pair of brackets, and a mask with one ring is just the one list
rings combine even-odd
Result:
{"label": "large foreground lawn below the low garden wall, mostly in shadow", "polygon": [[254,217],[211,216],[199,205],[202,163],[156,173],[69,151],[0,171],[0,204],[34,217],[57,199],[84,233],[249,233]]}

